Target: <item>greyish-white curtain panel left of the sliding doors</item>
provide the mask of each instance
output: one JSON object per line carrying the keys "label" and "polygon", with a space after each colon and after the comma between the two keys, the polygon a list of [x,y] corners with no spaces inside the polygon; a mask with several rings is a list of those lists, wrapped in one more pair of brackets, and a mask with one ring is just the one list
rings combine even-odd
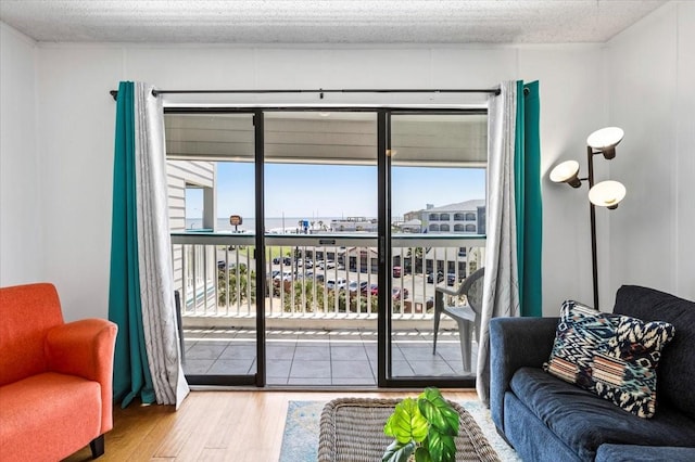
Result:
{"label": "greyish-white curtain panel left of the sliding doors", "polygon": [[189,388],[181,368],[174,301],[164,112],[152,88],[136,82],[134,98],[142,323],[156,401],[178,409]]}

